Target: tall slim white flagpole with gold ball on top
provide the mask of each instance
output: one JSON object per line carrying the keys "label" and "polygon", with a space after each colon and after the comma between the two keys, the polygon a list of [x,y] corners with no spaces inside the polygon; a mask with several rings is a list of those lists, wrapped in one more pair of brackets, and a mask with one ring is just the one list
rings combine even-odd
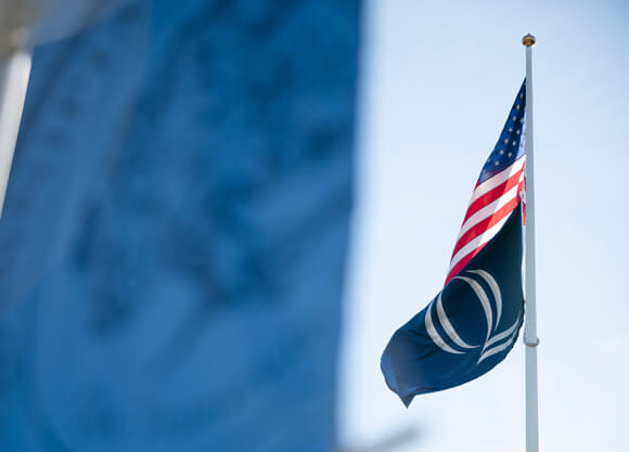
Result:
{"label": "tall slim white flagpole with gold ball on top", "polygon": [[536,43],[532,35],[522,38],[526,48],[526,285],[524,344],[526,366],[526,452],[539,451],[537,418],[537,337],[535,309],[535,179],[532,134],[532,56]]}

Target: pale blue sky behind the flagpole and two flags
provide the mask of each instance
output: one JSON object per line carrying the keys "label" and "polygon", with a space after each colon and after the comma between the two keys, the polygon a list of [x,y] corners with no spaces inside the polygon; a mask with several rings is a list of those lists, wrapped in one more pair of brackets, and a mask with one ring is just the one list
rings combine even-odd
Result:
{"label": "pale blue sky behind the flagpole and two flags", "polygon": [[[441,288],[478,172],[534,48],[540,450],[629,435],[629,8],[622,2],[368,1],[339,438],[396,452],[524,451],[524,346],[405,409],[380,373]],[[384,449],[383,449],[384,450]]]}

